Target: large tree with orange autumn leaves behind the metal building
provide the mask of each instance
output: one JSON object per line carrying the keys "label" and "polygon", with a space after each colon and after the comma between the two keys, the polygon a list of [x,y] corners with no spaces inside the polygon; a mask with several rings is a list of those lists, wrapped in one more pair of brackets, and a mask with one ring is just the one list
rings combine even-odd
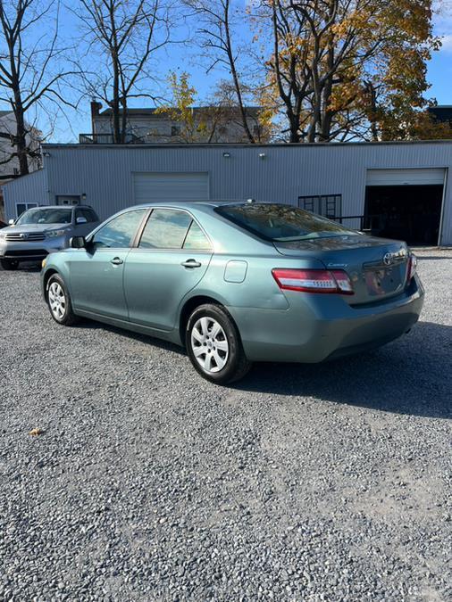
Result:
{"label": "large tree with orange autumn leaves behind the metal building", "polygon": [[431,0],[263,0],[266,94],[289,141],[444,134],[423,112],[431,17]]}

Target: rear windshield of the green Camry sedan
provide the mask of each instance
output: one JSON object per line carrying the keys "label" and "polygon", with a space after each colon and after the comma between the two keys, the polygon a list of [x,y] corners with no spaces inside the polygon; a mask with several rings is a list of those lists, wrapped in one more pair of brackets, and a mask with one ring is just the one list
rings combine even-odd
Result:
{"label": "rear windshield of the green Camry sedan", "polygon": [[215,211],[255,235],[279,243],[357,235],[355,230],[347,230],[330,219],[291,205],[249,203],[217,207]]}

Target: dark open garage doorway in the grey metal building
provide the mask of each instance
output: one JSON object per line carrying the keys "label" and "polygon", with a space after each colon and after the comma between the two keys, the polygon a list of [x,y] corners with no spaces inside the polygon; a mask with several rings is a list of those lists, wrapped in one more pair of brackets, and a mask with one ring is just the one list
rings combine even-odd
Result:
{"label": "dark open garage doorway in the grey metal building", "polygon": [[437,245],[443,186],[367,186],[364,221],[372,233],[408,244]]}

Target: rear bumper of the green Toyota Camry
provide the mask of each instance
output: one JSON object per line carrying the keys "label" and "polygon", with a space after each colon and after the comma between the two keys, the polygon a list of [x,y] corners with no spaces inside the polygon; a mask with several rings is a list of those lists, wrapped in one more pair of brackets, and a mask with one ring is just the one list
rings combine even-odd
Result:
{"label": "rear bumper of the green Toyota Camry", "polygon": [[228,308],[248,359],[316,363],[379,347],[417,322],[423,286],[416,276],[402,295],[362,309],[351,308],[340,295],[288,298],[284,311]]}

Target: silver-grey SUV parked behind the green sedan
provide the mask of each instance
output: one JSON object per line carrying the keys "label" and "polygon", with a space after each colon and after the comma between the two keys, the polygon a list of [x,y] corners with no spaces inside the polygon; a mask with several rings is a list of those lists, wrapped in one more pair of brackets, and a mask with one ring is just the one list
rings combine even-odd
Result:
{"label": "silver-grey SUV parked behind the green sedan", "polygon": [[86,236],[99,224],[88,205],[46,205],[29,209],[0,230],[0,265],[16,269],[21,261],[40,261],[69,246],[72,236]]}

